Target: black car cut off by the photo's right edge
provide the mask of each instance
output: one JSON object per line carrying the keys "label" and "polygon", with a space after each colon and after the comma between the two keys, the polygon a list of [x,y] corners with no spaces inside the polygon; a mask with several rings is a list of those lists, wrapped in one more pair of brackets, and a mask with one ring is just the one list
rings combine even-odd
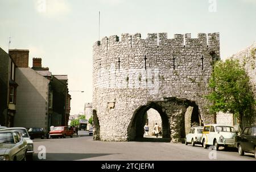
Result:
{"label": "black car cut off by the photo's right edge", "polygon": [[240,156],[250,152],[256,158],[256,126],[246,127],[241,135],[236,136],[236,147]]}

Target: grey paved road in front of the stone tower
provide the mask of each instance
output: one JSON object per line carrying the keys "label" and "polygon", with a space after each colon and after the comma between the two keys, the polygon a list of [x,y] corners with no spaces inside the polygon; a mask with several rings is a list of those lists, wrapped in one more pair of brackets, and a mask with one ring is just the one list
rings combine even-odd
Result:
{"label": "grey paved road in front of the stone tower", "polygon": [[[46,160],[256,160],[253,154],[241,157],[236,150],[212,151],[200,145],[192,147],[185,144],[166,142],[130,141],[105,142],[95,141],[88,131],[79,131],[79,137],[65,139],[34,140],[34,160],[38,159],[40,145],[46,147]],[[152,140],[155,141],[155,140]],[[42,149],[41,149],[42,150]],[[39,155],[43,155],[40,153]],[[214,160],[214,159],[212,159]]]}

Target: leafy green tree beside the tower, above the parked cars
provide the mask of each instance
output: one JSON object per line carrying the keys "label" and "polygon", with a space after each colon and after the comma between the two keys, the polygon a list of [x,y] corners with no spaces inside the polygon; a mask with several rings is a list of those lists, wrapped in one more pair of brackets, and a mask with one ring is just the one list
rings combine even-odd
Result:
{"label": "leafy green tree beside the tower, above the parked cars", "polygon": [[253,107],[256,104],[249,85],[249,77],[238,61],[218,61],[209,80],[212,92],[206,97],[212,103],[210,112],[233,113],[243,129],[243,118],[253,119]]}

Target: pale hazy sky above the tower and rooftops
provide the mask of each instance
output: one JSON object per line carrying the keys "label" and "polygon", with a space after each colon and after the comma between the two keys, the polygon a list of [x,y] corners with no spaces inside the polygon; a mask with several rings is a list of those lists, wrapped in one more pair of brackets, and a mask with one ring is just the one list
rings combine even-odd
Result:
{"label": "pale hazy sky above the tower and rooftops", "polygon": [[92,102],[92,46],[122,33],[220,32],[221,59],[256,40],[255,0],[0,0],[0,47],[29,49],[54,75],[68,75],[71,114]]}

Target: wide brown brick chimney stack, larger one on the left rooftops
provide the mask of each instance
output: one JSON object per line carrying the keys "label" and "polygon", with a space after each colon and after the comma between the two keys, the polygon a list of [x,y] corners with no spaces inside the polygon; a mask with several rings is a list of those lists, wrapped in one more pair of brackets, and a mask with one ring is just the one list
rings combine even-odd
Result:
{"label": "wide brown brick chimney stack, larger one on the left rooftops", "polygon": [[29,50],[9,50],[9,55],[13,58],[16,66],[26,68],[28,67]]}

